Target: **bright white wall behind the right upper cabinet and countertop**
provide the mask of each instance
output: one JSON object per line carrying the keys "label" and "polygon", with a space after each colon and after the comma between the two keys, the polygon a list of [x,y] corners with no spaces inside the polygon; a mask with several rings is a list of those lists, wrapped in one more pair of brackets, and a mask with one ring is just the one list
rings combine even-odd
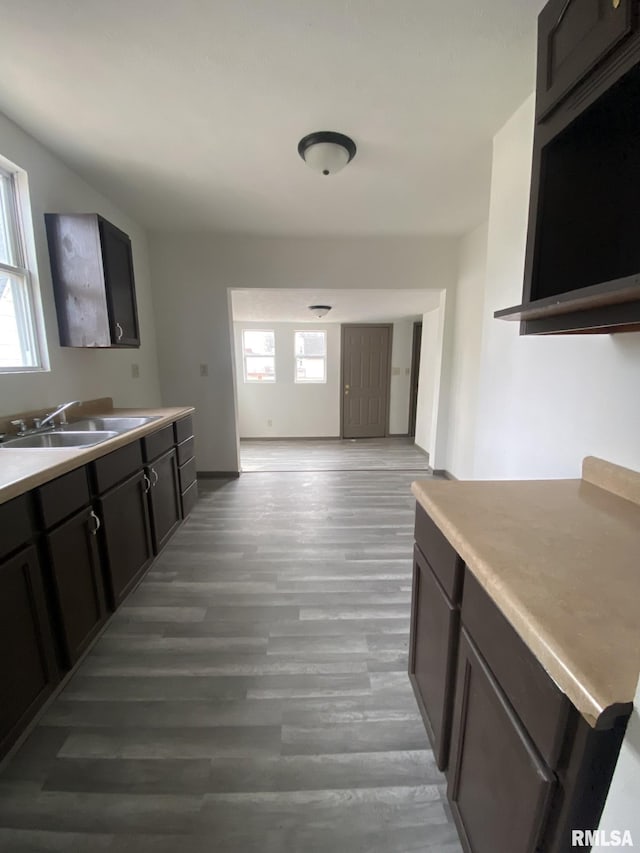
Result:
{"label": "bright white wall behind the right upper cabinet and countertop", "polygon": [[520,337],[493,319],[522,300],[533,114],[532,96],[494,140],[475,476],[576,477],[588,454],[640,469],[640,333]]}

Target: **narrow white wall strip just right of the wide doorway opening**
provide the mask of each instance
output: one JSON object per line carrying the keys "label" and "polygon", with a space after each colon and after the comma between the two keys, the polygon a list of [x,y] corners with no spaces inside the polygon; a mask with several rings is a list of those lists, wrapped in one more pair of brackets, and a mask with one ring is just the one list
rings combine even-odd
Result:
{"label": "narrow white wall strip just right of the wide doorway opening", "polygon": [[465,235],[455,292],[454,353],[451,365],[449,426],[445,468],[473,479],[478,385],[487,263],[485,222]]}

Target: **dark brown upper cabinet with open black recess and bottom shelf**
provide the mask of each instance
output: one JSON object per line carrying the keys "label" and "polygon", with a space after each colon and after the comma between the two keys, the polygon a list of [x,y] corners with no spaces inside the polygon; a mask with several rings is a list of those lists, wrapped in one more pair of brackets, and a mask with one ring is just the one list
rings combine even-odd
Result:
{"label": "dark brown upper cabinet with open black recess and bottom shelf", "polygon": [[640,330],[638,0],[550,0],[538,77],[521,334]]}

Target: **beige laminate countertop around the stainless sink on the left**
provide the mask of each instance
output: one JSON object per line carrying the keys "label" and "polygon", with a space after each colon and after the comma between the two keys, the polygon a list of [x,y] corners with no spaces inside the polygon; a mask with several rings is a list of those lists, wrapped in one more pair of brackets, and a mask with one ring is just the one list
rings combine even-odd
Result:
{"label": "beige laminate countertop around the stainless sink on the left", "polygon": [[[0,447],[0,504],[41,486],[54,477],[86,465],[93,459],[99,459],[111,453],[112,450],[117,450],[118,447],[149,435],[193,411],[191,406],[162,409],[104,409],[102,411],[92,409],[90,414],[97,417],[157,417],[158,420],[128,430],[93,447],[55,449]],[[78,417],[74,414],[73,419]]]}

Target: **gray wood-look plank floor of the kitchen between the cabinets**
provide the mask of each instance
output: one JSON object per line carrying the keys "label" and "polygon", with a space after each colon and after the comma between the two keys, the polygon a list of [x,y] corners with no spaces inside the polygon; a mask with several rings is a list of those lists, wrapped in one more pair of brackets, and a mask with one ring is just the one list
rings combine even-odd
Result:
{"label": "gray wood-look plank floor of the kitchen between the cabinets", "polygon": [[459,853],[406,674],[424,476],[201,484],[0,773],[0,851]]}

